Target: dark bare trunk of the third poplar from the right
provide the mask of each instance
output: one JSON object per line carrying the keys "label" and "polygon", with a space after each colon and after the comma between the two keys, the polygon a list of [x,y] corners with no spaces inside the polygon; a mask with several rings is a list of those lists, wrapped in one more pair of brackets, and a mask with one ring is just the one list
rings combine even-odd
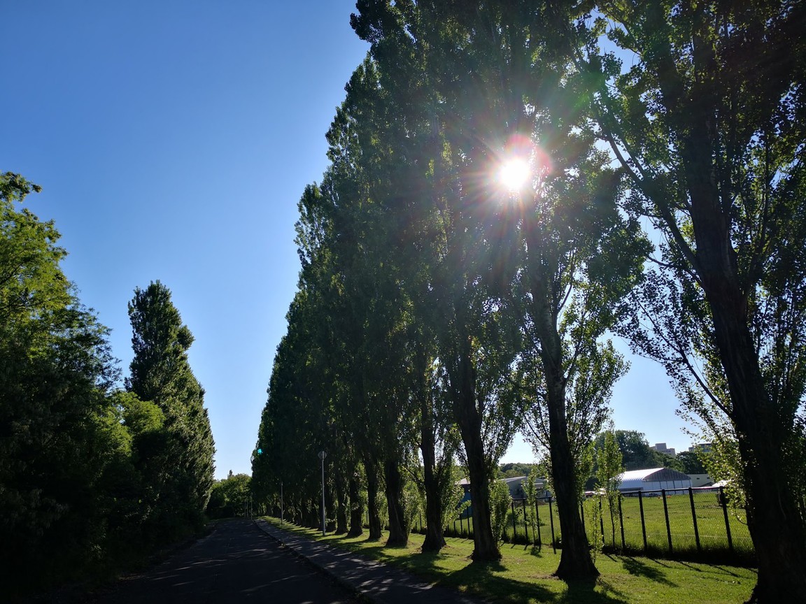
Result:
{"label": "dark bare trunk of the third poplar from the right", "polygon": [[[469,349],[470,341],[460,342]],[[474,562],[501,560],[498,542],[492,535],[490,520],[490,469],[484,455],[484,440],[481,436],[481,416],[476,408],[476,387],[469,350],[463,350],[457,367],[458,375],[451,375],[451,396],[454,403],[456,423],[462,434],[467,454],[467,472],[470,474],[470,496],[473,515]]]}

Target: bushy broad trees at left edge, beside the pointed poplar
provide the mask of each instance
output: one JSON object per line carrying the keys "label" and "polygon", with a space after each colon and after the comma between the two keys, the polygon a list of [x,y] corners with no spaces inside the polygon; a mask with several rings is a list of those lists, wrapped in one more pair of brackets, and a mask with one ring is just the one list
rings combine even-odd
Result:
{"label": "bushy broad trees at left edge, beside the pointed poplar", "polygon": [[6,592],[106,573],[140,556],[142,435],[161,413],[110,392],[107,330],[60,270],[59,233],[0,175],[0,564]]}

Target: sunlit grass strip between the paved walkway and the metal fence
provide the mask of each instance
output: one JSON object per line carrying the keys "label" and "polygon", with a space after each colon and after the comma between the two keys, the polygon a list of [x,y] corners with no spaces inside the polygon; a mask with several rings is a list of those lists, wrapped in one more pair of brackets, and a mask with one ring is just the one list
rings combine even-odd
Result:
{"label": "sunlit grass strip between the paved walkway and the metal fence", "polygon": [[[267,520],[280,525],[279,519]],[[318,531],[289,523],[282,527],[313,540],[324,540],[336,547],[399,565],[436,585],[447,585],[493,602],[738,604],[750,597],[756,580],[753,569],[599,554],[596,556],[596,567],[601,573],[599,580],[591,585],[575,585],[551,576],[559,564],[559,550],[555,554],[550,546],[538,550],[502,544],[501,562],[479,565],[470,560],[472,540],[449,538],[447,548],[434,555],[420,552],[422,535],[413,534],[408,548],[385,548],[384,540],[368,542],[366,536],[322,537]]]}

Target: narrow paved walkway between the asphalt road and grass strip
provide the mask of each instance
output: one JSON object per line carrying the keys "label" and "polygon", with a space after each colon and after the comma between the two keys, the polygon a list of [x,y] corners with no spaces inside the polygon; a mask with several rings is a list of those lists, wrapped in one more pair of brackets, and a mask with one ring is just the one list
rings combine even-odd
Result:
{"label": "narrow paved walkway between the asphalt road and grass strip", "polygon": [[374,561],[347,550],[334,548],[320,541],[313,541],[284,531],[265,520],[256,520],[256,525],[268,536],[284,544],[298,556],[318,566],[322,572],[334,577],[347,588],[379,604],[484,604],[479,598],[471,598],[446,587],[430,585],[426,581],[382,562]]}

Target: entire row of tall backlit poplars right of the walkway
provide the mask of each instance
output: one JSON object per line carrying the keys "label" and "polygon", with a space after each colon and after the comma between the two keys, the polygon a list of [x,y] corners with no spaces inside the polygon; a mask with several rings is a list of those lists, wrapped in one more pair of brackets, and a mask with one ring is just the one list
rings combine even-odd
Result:
{"label": "entire row of tall backlit poplars right of the walkway", "polygon": [[[357,9],[372,47],[299,203],[253,487],[315,511],[326,450],[337,530],[359,534],[366,505],[380,538],[383,490],[405,543],[413,480],[438,549],[458,455],[488,561],[489,485],[523,426],[550,456],[557,575],[595,577],[579,466],[625,371],[619,333],[736,445],[754,600],[806,602],[806,3]],[[513,159],[529,179],[503,188]]]}

